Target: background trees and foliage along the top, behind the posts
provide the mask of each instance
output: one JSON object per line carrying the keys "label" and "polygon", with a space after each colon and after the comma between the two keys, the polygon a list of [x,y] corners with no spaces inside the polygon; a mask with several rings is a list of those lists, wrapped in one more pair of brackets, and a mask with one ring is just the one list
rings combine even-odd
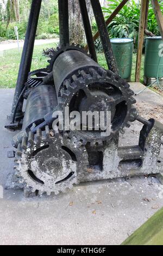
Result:
{"label": "background trees and foliage along the top, behind the posts", "polygon": [[[16,39],[14,32],[15,26],[18,27],[20,39],[24,39],[31,2],[32,0],[0,0],[0,40]],[[104,2],[105,7],[103,7],[103,12],[107,19],[121,0],[105,0],[103,1],[103,4]],[[160,4],[160,7],[163,13],[163,4]],[[140,4],[137,4],[134,0],[130,0],[110,23],[108,27],[110,37],[133,38],[136,47],[137,35],[139,32],[139,19]],[[92,22],[92,30],[93,33],[97,31],[95,20]],[[149,4],[148,30],[155,35],[159,35],[158,24],[151,3]],[[56,38],[58,35],[58,0],[43,0],[39,25],[37,28],[37,38]],[[98,45],[98,42],[96,44]]]}

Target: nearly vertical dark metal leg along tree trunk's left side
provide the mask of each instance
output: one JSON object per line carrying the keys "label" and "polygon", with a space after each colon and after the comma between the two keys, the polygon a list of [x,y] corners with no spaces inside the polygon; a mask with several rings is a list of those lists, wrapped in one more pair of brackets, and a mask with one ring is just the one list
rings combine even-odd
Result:
{"label": "nearly vertical dark metal leg along tree trunk's left side", "polygon": [[69,21],[68,21],[68,0],[58,0],[59,9],[59,33],[60,47],[70,43]]}

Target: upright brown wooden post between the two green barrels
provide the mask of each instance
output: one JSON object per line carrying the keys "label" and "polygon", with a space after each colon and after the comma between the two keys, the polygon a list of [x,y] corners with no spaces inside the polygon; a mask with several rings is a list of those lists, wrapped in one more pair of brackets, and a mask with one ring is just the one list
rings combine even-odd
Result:
{"label": "upright brown wooden post between the two green barrels", "polygon": [[141,0],[141,14],[140,14],[139,38],[138,38],[138,46],[137,46],[135,82],[140,82],[141,57],[142,57],[142,48],[143,48],[143,38],[144,38],[144,32],[145,32],[147,4],[148,4],[148,0]]}

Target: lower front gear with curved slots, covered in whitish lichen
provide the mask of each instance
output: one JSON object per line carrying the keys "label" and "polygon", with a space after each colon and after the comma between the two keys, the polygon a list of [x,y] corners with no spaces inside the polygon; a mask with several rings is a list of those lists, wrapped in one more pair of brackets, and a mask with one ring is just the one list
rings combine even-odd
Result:
{"label": "lower front gear with curved slots, covered in whitish lichen", "polygon": [[58,131],[37,130],[18,145],[15,173],[25,189],[39,194],[67,192],[77,184],[78,173],[87,166],[84,147],[59,135]]}

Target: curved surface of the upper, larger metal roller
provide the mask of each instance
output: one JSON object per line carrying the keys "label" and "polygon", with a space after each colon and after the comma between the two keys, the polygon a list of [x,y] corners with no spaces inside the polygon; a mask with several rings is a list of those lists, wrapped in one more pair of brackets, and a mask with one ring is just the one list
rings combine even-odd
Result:
{"label": "curved surface of the upper, larger metal roller", "polygon": [[79,70],[97,69],[99,65],[86,54],[71,50],[66,51],[55,60],[53,77],[57,96],[60,94],[62,83],[72,75],[78,75]]}

